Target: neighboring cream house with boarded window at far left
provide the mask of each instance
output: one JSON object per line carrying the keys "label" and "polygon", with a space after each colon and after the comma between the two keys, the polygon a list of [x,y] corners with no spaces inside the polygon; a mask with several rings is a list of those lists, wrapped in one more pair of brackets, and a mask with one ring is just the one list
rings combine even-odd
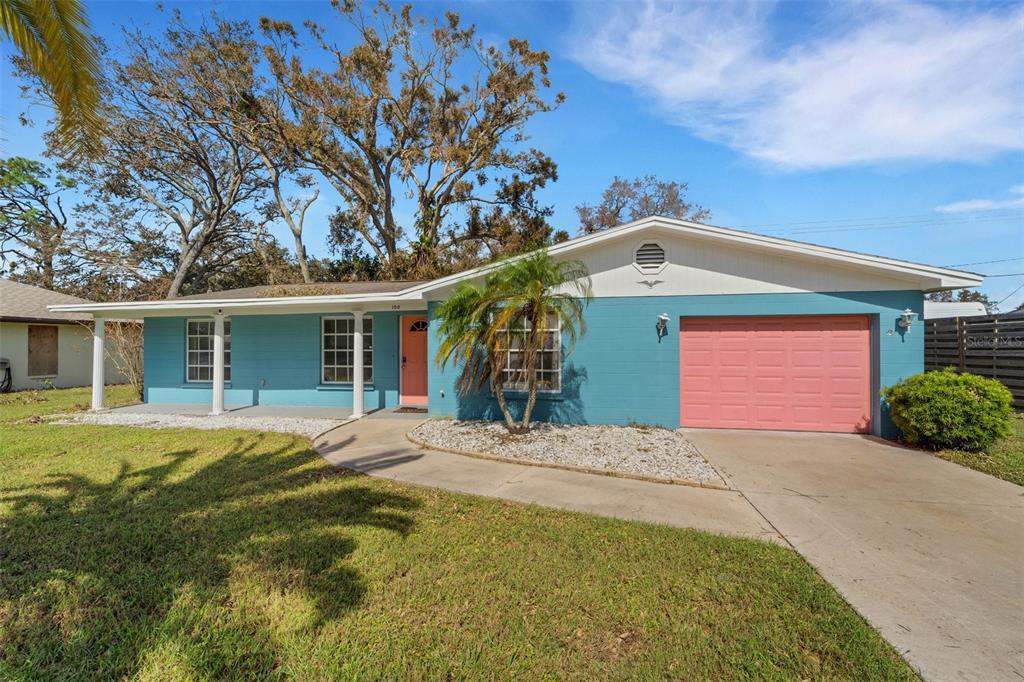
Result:
{"label": "neighboring cream house with boarded window at far left", "polygon": [[[0,358],[10,363],[13,390],[86,386],[92,381],[92,315],[47,309],[88,302],[0,280]],[[120,381],[110,358],[104,374],[112,382]]]}

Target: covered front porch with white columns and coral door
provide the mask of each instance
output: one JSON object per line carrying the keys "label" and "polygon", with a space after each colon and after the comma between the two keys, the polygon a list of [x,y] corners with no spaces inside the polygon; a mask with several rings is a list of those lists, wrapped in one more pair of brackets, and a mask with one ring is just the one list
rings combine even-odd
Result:
{"label": "covered front porch with white columns and coral door", "polygon": [[[81,307],[96,321],[96,357],[105,354],[104,318],[143,322],[144,404],[133,410],[338,420],[426,408],[429,324],[420,296],[230,297],[242,292]],[[103,410],[104,380],[94,363],[94,411]]]}

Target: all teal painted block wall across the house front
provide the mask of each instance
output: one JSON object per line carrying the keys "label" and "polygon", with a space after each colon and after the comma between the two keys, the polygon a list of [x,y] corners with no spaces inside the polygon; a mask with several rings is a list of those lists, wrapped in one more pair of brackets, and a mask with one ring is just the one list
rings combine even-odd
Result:
{"label": "all teal painted block wall across the house front", "polygon": [[[707,315],[867,314],[872,319],[872,386],[879,390],[924,369],[920,324],[909,333],[897,326],[899,313],[923,311],[920,291],[744,294],[600,298],[587,308],[587,334],[562,361],[562,391],[541,395],[539,420],[566,423],[679,426],[679,318]],[[435,304],[431,304],[431,311]],[[672,322],[658,338],[657,315]],[[374,380],[367,385],[368,409],[398,403],[398,318],[374,317]],[[282,404],[349,408],[350,385],[321,385],[319,314],[231,316],[231,381],[228,406]],[[145,319],[147,402],[207,402],[210,385],[185,382],[185,317]],[[438,369],[436,321],[428,335],[430,414],[460,419],[500,419],[489,393],[460,396],[457,368]],[[513,409],[522,398],[510,394]],[[879,402],[880,432],[896,429]]]}

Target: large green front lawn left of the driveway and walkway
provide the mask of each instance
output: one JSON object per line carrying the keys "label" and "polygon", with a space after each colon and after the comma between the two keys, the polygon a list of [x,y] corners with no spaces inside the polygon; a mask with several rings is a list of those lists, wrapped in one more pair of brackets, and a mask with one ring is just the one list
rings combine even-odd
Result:
{"label": "large green front lawn left of the driveway and walkway", "polygon": [[0,679],[913,678],[782,547],[25,420],[86,394],[0,403]]}

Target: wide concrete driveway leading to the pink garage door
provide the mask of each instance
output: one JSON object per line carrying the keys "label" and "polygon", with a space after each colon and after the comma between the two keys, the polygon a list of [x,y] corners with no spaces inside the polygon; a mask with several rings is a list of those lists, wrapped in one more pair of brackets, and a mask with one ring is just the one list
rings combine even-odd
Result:
{"label": "wide concrete driveway leading to the pink garage door", "polygon": [[927,680],[1024,680],[1024,487],[866,436],[685,429]]}

